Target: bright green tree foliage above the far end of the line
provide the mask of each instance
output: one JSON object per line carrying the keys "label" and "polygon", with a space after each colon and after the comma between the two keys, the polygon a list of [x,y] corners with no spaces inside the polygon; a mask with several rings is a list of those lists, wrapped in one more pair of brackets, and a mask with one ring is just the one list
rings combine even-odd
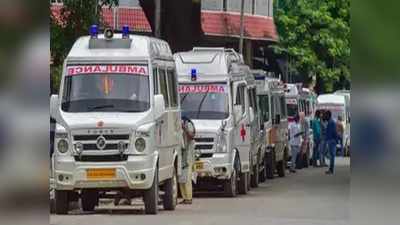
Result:
{"label": "bright green tree foliage above the far end of the line", "polygon": [[290,58],[289,69],[317,76],[331,91],[340,78],[350,80],[350,0],[275,1],[280,41],[276,52]]}

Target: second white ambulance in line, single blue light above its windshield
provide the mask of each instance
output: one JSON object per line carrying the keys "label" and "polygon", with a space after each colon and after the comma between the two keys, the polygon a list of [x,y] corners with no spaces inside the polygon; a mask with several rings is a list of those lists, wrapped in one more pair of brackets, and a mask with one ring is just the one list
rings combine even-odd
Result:
{"label": "second white ambulance in line, single blue light above its windshield", "polygon": [[246,194],[258,185],[262,159],[249,67],[233,49],[194,48],[174,57],[182,115],[196,127],[196,186]]}

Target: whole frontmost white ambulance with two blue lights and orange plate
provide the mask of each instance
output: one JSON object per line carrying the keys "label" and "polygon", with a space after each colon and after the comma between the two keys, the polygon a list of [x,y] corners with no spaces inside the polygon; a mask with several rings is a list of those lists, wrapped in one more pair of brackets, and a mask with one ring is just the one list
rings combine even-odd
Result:
{"label": "whole frontmost white ambulance with two blue lights and orange plate", "polygon": [[[52,157],[57,214],[81,200],[143,197],[145,213],[177,204],[182,128],[175,63],[167,42],[106,29],[69,52],[59,95]],[[162,190],[162,195],[160,190]]]}

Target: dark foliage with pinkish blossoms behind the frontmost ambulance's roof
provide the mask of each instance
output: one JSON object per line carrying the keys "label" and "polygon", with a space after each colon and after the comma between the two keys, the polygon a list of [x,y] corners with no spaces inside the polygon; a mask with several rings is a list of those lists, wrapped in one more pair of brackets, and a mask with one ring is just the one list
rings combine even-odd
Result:
{"label": "dark foliage with pinkish blossoms behind the frontmost ambulance's roof", "polygon": [[118,4],[119,0],[64,0],[60,15],[50,14],[51,83],[54,88],[59,87],[60,68],[76,39],[88,35],[92,24],[103,25],[102,7]]}

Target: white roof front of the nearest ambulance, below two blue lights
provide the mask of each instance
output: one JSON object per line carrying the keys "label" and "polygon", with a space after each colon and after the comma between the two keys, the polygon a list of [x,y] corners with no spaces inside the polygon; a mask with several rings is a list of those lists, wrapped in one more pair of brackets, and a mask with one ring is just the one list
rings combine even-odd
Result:
{"label": "white roof front of the nearest ambulance, below two blue lights", "polygon": [[[150,58],[164,58],[173,60],[171,49],[164,40],[140,35],[130,35],[132,40],[128,48],[90,48],[91,38],[84,36],[79,38],[72,46],[67,60],[85,59],[109,59],[116,60],[146,60]],[[104,35],[98,35],[98,39],[104,40]],[[118,42],[122,39],[122,34],[114,34],[110,42]]]}

